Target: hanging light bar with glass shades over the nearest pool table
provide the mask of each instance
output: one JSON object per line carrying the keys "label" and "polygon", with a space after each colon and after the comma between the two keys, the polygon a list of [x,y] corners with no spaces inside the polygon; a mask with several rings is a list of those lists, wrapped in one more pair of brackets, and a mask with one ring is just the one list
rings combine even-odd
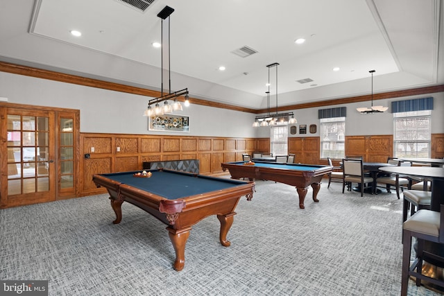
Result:
{"label": "hanging light bar with glass shades over the nearest pool table", "polygon": [[[170,38],[169,38],[169,16],[171,13],[173,13],[174,9],[165,6],[164,9],[162,9],[158,14],[157,17],[160,17],[162,19],[161,24],[161,39],[162,39],[162,80],[161,80],[161,90],[160,90],[160,97],[158,98],[152,98],[148,101],[148,108],[144,112],[144,116],[153,116],[153,115],[162,115],[164,113],[171,113],[174,111],[182,111],[182,105],[178,101],[178,98],[180,96],[185,96],[185,106],[189,106],[189,97],[188,97],[188,89],[182,89],[178,92],[171,92],[171,67],[170,67],[170,58],[169,58],[169,44],[170,44]],[[168,17],[168,23],[164,27],[164,19],[167,19]],[[164,38],[164,35],[167,35],[167,38]],[[164,52],[167,55],[164,57]],[[167,64],[168,69],[164,69],[164,64]],[[168,81],[169,81],[169,94],[164,95],[164,75],[168,73]],[[172,100],[173,103],[170,105],[168,103],[168,100]],[[164,102],[162,105],[160,103]],[[151,107],[151,105],[155,105],[155,107]]]}

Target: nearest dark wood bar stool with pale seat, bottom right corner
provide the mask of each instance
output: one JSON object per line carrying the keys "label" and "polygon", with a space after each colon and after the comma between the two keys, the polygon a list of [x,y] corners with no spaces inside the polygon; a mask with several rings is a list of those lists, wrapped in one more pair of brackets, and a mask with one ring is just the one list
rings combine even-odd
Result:
{"label": "nearest dark wood bar stool with pale seat, bottom right corner", "polygon": [[[441,214],[442,213],[442,214]],[[411,238],[417,238],[416,259],[410,263]],[[440,278],[428,277],[422,274],[422,261],[424,260],[425,241],[444,244],[444,204],[441,211],[420,209],[413,216],[402,223],[402,269],[401,269],[401,296],[406,296],[409,289],[409,277],[416,278],[416,286],[425,280],[430,284],[444,288],[444,281]],[[444,258],[427,252],[427,259],[444,262]]]}

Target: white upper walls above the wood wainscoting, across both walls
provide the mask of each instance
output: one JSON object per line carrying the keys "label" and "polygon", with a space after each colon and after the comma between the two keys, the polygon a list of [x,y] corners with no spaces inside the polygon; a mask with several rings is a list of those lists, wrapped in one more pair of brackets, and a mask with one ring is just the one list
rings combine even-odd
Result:
{"label": "white upper walls above the wood wainscoting, across both walls", "polygon": [[[326,107],[292,110],[299,125],[307,125],[307,134],[289,134],[289,137],[319,136],[318,110],[347,107],[345,134],[347,136],[393,134],[392,101],[411,98],[434,97],[432,133],[444,133],[444,93],[410,96],[376,101],[389,107],[382,114],[360,114],[357,107],[368,107],[370,102],[332,105]],[[170,132],[148,131],[148,118],[142,116],[149,97],[114,92],[94,87],[84,87],[65,82],[20,76],[0,72],[0,97],[9,103],[62,107],[80,110],[80,132],[117,134],[165,134]],[[255,114],[212,108],[202,105],[184,107],[180,113],[189,116],[190,132],[171,132],[171,135],[212,137],[269,137],[269,128],[253,128]],[[309,125],[318,126],[315,134],[309,133]]]}

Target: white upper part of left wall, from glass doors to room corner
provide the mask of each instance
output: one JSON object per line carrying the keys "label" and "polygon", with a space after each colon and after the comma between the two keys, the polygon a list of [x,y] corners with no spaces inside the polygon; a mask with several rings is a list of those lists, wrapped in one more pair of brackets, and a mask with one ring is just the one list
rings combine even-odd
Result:
{"label": "white upper part of left wall, from glass doors to room corner", "polygon": [[[84,87],[65,82],[0,72],[0,97],[9,103],[80,110],[80,132],[164,134],[148,131],[142,116],[150,97]],[[190,132],[182,136],[255,137],[255,114],[190,105],[177,114],[189,116]]]}

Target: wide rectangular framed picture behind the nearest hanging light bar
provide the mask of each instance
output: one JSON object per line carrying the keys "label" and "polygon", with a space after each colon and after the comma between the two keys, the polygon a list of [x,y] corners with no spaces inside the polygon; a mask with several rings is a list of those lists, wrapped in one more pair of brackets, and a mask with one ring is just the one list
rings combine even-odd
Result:
{"label": "wide rectangular framed picture behind the nearest hanging light bar", "polygon": [[148,130],[189,132],[189,116],[163,114],[148,117]]}

